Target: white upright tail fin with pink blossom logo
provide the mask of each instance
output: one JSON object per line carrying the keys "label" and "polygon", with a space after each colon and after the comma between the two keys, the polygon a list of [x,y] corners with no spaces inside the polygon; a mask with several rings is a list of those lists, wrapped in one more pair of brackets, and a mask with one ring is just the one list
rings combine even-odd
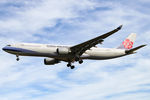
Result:
{"label": "white upright tail fin with pink blossom logo", "polygon": [[136,34],[131,33],[118,47],[118,49],[131,49],[136,39]]}

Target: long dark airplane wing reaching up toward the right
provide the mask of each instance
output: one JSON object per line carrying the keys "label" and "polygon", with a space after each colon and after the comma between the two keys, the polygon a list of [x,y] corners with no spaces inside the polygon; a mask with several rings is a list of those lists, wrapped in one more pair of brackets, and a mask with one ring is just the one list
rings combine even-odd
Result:
{"label": "long dark airplane wing reaching up toward the right", "polygon": [[93,38],[91,40],[88,40],[86,42],[80,43],[78,45],[75,45],[73,47],[70,48],[71,53],[81,56],[86,50],[90,49],[91,47],[94,47],[97,44],[101,44],[105,38],[107,38],[108,36],[116,33],[117,31],[119,31],[122,28],[122,25],[120,25],[119,27],[117,27],[116,29],[105,33],[103,35],[100,35],[96,38]]}

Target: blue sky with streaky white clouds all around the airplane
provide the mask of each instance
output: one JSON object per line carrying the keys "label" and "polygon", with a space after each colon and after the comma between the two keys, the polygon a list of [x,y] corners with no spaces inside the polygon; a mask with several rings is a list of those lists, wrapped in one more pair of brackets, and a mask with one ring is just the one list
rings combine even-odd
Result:
{"label": "blue sky with streaky white clouds all around the airplane", "polygon": [[[135,45],[149,43],[148,1],[1,0],[0,42],[77,44],[124,24],[101,47],[115,47],[131,32]],[[43,58],[0,53],[1,100],[148,100],[149,46],[135,55],[45,66]]]}

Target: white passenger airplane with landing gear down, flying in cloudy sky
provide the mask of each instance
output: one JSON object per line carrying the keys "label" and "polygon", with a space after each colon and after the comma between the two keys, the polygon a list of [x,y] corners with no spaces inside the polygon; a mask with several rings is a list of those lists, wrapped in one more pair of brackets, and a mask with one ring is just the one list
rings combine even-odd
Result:
{"label": "white passenger airplane with landing gear down, flying in cloudy sky", "polygon": [[136,53],[136,50],[146,46],[140,45],[138,47],[132,48],[133,43],[136,39],[136,34],[131,33],[117,48],[98,48],[97,44],[102,44],[105,38],[118,32],[122,28],[122,25],[116,29],[100,35],[91,40],[85,41],[83,43],[74,46],[61,46],[61,45],[51,45],[51,44],[33,44],[33,43],[19,43],[11,44],[3,47],[2,49],[10,54],[14,54],[19,61],[19,56],[36,56],[45,57],[45,65],[58,64],[61,61],[67,62],[67,67],[74,69],[75,66],[72,65],[74,62],[83,63],[85,59],[91,60],[106,60],[118,58],[130,54]]}

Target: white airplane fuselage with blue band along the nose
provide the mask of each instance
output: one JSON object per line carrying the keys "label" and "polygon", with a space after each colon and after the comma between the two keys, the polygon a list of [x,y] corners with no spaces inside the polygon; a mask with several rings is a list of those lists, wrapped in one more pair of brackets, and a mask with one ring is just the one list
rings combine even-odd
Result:
{"label": "white airplane fuselage with blue band along the nose", "polygon": [[[13,44],[4,47],[3,49],[11,54],[17,56],[38,56],[38,57],[50,57],[58,60],[67,61],[67,59],[71,58],[69,54],[58,54],[58,48],[67,48],[69,46],[55,46],[49,44]],[[94,60],[104,60],[111,59],[116,57],[125,56],[124,49],[116,49],[116,48],[96,48],[93,47],[90,50],[86,50],[85,53],[80,57],[81,59],[94,59]]]}

